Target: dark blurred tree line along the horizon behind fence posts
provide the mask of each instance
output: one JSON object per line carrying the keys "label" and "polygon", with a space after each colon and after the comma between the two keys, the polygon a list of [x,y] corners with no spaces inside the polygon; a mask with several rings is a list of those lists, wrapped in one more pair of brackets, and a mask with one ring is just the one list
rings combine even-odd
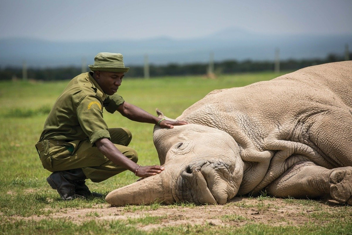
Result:
{"label": "dark blurred tree line along the horizon behind fence posts", "polygon": [[[352,58],[352,53],[350,53]],[[343,61],[344,57],[336,54],[329,54],[323,59],[288,59],[280,61],[280,70],[297,70],[317,64]],[[138,78],[144,76],[143,66],[130,66],[128,77]],[[207,73],[207,63],[191,63],[191,64],[167,64],[167,65],[150,65],[150,76],[180,76],[180,75],[203,75]],[[243,72],[262,72],[273,71],[273,61],[236,61],[226,60],[214,63],[215,74],[230,74]],[[81,68],[78,67],[58,67],[58,68],[29,68],[27,76],[30,79],[52,81],[72,79],[81,73]],[[0,80],[22,78],[22,68],[5,67],[0,69]]]}

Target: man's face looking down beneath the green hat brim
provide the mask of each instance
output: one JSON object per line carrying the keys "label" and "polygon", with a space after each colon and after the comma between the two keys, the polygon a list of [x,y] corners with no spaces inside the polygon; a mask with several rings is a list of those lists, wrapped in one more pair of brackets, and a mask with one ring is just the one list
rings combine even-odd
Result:
{"label": "man's face looking down beneath the green hat brim", "polygon": [[113,95],[121,85],[124,73],[96,71],[95,80],[107,95]]}

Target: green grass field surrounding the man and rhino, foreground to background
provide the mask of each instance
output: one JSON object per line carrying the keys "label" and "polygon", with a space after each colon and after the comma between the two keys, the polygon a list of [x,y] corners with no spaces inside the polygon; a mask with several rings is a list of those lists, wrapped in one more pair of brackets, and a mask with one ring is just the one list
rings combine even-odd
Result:
{"label": "green grass field surrounding the man and rhino, foreground to background", "polygon": [[[278,74],[270,72],[221,75],[215,80],[201,76],[150,80],[128,79],[127,76],[118,93],[127,102],[150,113],[155,114],[155,109],[158,108],[166,116],[176,118],[214,89],[245,86],[277,76]],[[101,219],[100,210],[109,209],[103,199],[62,201],[57,192],[46,183],[45,179],[50,172],[43,169],[34,144],[39,139],[50,107],[67,83],[68,81],[0,82],[0,234],[352,234],[350,206],[332,206],[329,211],[328,205],[312,200],[279,201],[264,195],[254,198],[254,204],[249,207],[243,203],[228,205],[232,209],[254,208],[264,213],[278,211],[280,206],[275,205],[275,202],[280,202],[281,206],[295,204],[298,208],[313,208],[316,213],[303,215],[304,211],[297,211],[295,216],[303,213],[303,222],[288,223],[285,226],[277,224],[275,219],[272,223],[262,223],[260,220],[247,218],[245,214],[234,215],[231,211],[215,218],[227,223],[226,226],[208,222],[193,226],[177,223],[162,225],[170,216],[167,213],[162,214],[163,210],[176,210],[181,214],[186,210],[216,210],[215,205],[200,207],[193,204],[126,206],[116,209],[119,215],[138,212],[142,216],[119,219],[112,214],[108,219]],[[133,139],[130,146],[137,150],[139,164],[159,163],[152,142],[153,125],[132,122],[119,113],[110,114],[106,111],[104,118],[109,127],[126,127],[131,130]],[[132,172],[124,172],[99,184],[87,180],[87,185],[92,191],[106,194],[115,188],[131,184],[136,179]],[[70,217],[54,216],[75,209],[87,209],[83,220],[78,219],[77,222]],[[150,212],[152,213],[148,214]],[[153,216],[154,212],[160,215]],[[153,224],[161,225],[148,230],[142,229],[143,226]]]}

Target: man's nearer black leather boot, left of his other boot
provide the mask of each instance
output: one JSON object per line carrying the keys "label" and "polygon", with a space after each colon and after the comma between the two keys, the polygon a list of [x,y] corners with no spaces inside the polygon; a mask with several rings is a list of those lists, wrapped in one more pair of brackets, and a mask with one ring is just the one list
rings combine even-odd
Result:
{"label": "man's nearer black leather boot, left of his other boot", "polygon": [[77,194],[75,190],[75,181],[86,179],[82,169],[72,169],[68,171],[56,171],[46,178],[52,189],[56,189],[63,200],[72,200],[75,198],[84,198]]}

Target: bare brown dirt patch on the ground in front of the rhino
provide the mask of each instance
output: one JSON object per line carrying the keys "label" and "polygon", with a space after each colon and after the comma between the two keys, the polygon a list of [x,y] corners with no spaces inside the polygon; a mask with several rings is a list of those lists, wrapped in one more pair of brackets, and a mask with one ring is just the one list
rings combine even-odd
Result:
{"label": "bare brown dirt patch on the ground in front of the rhino", "polygon": [[[99,206],[99,208],[98,208]],[[273,225],[302,225],[318,222],[310,216],[313,213],[332,212],[341,204],[335,201],[324,202],[304,200],[285,200],[280,198],[242,198],[236,197],[225,205],[160,205],[111,207],[107,204],[89,209],[65,209],[50,216],[13,217],[13,219],[69,218],[76,223],[94,220],[125,220],[133,222],[143,230],[176,225],[210,224],[214,226],[244,225],[264,223]],[[352,208],[351,208],[352,210]],[[151,219],[150,218],[156,218]],[[143,222],[143,219],[149,218]]]}

